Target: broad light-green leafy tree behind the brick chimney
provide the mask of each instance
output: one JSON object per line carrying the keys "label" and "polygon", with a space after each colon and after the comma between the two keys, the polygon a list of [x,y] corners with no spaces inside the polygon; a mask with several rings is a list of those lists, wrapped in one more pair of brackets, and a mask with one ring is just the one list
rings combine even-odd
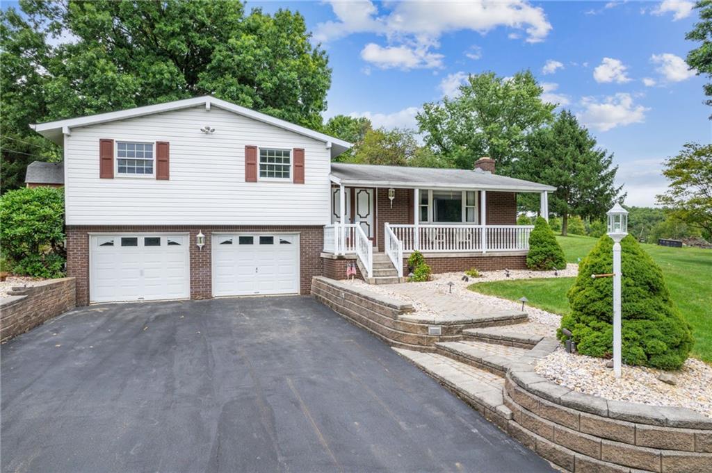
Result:
{"label": "broad light-green leafy tree behind the brick chimney", "polygon": [[490,156],[498,174],[511,176],[527,135],[552,119],[555,105],[543,102],[542,92],[528,70],[511,78],[470,75],[457,97],[423,105],[417,119],[424,142],[455,167],[471,169]]}

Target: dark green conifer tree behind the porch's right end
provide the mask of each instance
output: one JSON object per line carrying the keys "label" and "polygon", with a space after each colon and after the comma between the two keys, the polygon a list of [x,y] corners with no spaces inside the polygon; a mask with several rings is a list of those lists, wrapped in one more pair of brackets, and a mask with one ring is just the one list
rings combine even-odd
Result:
{"label": "dark green conifer tree behind the porch's right end", "polygon": [[557,188],[549,208],[562,217],[562,235],[567,235],[571,214],[598,218],[613,205],[622,188],[613,184],[618,171],[613,154],[597,148],[571,112],[560,112],[550,127],[533,132],[527,142],[518,175]]}

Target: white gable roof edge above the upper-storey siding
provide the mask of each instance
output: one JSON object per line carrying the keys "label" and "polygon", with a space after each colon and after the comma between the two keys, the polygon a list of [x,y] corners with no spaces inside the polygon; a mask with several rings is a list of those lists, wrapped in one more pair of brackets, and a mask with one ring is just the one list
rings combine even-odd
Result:
{"label": "white gable roof edge above the upper-storey siding", "polygon": [[243,115],[244,117],[255,119],[258,122],[271,124],[275,127],[286,129],[290,132],[301,134],[305,137],[310,137],[320,142],[324,142],[327,147],[330,147],[332,157],[338,156],[339,154],[345,152],[352,146],[351,143],[345,142],[342,139],[330,137],[328,134],[315,132],[313,129],[301,127],[298,124],[286,122],[283,119],[278,119],[261,112],[256,112],[255,110],[251,110],[246,107],[241,107],[240,105],[235,105],[234,103],[226,102],[225,100],[217,99],[215,97],[212,97],[211,95],[206,95],[204,97],[194,97],[185,100],[174,100],[173,102],[147,105],[145,107],[130,108],[128,110],[120,110],[118,112],[100,113],[98,115],[89,115],[88,117],[69,118],[64,120],[57,120],[56,122],[31,124],[30,127],[39,134],[41,134],[43,137],[51,139],[56,144],[62,144],[64,135],[71,134],[72,128],[113,122],[115,120],[142,117],[144,115],[152,115],[155,113],[170,112],[172,110],[197,107],[200,105],[204,105],[206,110],[210,110],[211,106],[219,107],[223,110],[228,110],[229,112],[234,112],[238,115]]}

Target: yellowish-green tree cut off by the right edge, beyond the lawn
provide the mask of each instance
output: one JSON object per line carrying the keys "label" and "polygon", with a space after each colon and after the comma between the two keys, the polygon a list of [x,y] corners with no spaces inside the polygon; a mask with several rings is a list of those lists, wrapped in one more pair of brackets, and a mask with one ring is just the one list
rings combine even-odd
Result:
{"label": "yellowish-green tree cut off by the right edge, beyond the lawn", "polygon": [[669,216],[701,228],[712,237],[712,144],[685,144],[677,156],[665,161],[663,175],[670,184],[657,196]]}

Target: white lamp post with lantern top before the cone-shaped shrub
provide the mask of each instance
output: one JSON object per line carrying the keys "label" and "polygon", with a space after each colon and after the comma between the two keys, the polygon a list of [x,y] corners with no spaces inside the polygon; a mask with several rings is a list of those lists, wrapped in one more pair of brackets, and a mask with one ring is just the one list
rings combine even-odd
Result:
{"label": "white lamp post with lantern top before the cone-shaped shrub", "polygon": [[621,376],[621,240],[628,234],[628,212],[616,203],[606,214],[613,240],[613,372]]}

